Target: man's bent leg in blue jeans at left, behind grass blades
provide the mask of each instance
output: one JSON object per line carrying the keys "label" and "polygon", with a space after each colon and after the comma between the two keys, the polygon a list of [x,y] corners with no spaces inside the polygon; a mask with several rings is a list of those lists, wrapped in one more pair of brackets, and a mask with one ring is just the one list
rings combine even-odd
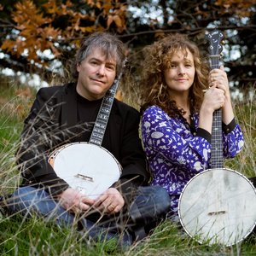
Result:
{"label": "man's bent leg in blue jeans at left, behind grass blades", "polygon": [[[80,225],[81,232],[87,233],[96,240],[104,241],[119,238],[116,232],[110,232],[108,228],[98,226],[89,219],[75,216],[61,207],[44,189],[36,189],[30,186],[16,189],[8,200],[8,208],[12,213],[19,212],[26,217],[36,214],[47,220],[54,220],[60,226],[71,226],[76,221]],[[101,224],[101,223],[99,223]],[[122,236],[121,245],[131,245],[131,237],[128,234]]]}

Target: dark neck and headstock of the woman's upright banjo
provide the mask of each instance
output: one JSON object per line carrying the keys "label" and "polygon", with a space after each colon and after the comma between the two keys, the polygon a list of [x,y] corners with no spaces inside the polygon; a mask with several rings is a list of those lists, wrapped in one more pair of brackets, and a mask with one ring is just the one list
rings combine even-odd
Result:
{"label": "dark neck and headstock of the woman's upright banjo", "polygon": [[[210,68],[219,68],[220,53],[222,46],[220,44],[223,38],[222,32],[213,31],[207,35],[210,41],[209,58]],[[222,141],[222,109],[214,111],[212,116],[212,150],[211,150],[211,168],[223,168],[223,141]]]}

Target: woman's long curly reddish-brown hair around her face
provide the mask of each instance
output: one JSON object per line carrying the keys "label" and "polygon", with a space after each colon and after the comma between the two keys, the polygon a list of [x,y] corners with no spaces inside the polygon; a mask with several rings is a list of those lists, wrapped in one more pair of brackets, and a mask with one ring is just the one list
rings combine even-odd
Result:
{"label": "woman's long curly reddish-brown hair around her face", "polygon": [[177,108],[175,101],[170,101],[164,71],[170,67],[173,54],[182,50],[184,55],[187,55],[188,49],[194,57],[195,65],[195,79],[189,90],[190,108],[193,112],[199,111],[203,100],[203,90],[208,87],[209,65],[207,61],[203,61],[197,45],[191,42],[187,35],[179,33],[170,34],[143,49],[145,58],[139,84],[142,111],[149,106],[157,105],[172,117],[177,113],[185,113],[183,109]]}

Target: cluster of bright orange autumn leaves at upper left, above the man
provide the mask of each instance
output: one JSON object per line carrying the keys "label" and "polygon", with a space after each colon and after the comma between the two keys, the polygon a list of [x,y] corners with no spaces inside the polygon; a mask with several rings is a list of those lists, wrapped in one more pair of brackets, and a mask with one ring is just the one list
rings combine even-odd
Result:
{"label": "cluster of bright orange autumn leaves at upper left, above the man", "polygon": [[[94,2],[92,0],[84,1],[92,9],[101,9],[101,15],[107,20],[107,28],[115,23],[117,30],[124,30],[125,19],[123,5],[117,8],[112,6],[111,1]],[[95,12],[85,14],[73,9],[74,4],[67,0],[61,3],[61,7],[56,0],[49,0],[42,4],[39,9],[31,0],[24,0],[22,3],[15,4],[15,11],[12,13],[12,19],[15,21],[15,29],[20,33],[12,39],[6,39],[3,42],[2,49],[10,51],[13,55],[22,55],[27,51],[27,60],[35,61],[45,65],[46,63],[38,55],[38,50],[44,52],[44,49],[51,49],[53,55],[60,55],[55,42],[66,41],[74,36],[81,36],[83,33],[90,33],[96,30],[102,30],[101,24],[96,26]],[[66,26],[55,27],[55,22],[63,20]],[[83,25],[85,24],[85,26]],[[24,40],[26,38],[26,40]]]}

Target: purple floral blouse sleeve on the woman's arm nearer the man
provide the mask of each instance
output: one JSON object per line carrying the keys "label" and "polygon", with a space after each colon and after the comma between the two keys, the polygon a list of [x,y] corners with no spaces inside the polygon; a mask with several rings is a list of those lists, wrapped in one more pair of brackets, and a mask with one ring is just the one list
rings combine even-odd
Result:
{"label": "purple floral blouse sleeve on the woman's arm nearer the man", "polygon": [[211,144],[205,137],[189,136],[189,131],[177,119],[171,119],[160,108],[151,107],[143,113],[142,136],[146,154],[161,154],[191,172],[208,167]]}

